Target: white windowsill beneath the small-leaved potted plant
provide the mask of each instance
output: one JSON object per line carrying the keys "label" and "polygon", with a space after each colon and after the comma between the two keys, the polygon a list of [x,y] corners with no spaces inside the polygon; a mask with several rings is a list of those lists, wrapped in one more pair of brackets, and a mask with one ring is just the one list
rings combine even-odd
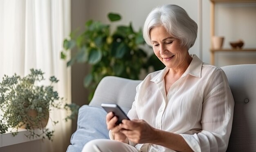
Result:
{"label": "white windowsill beneath the small-leaved potted plant", "polygon": [[[36,130],[36,132],[38,133],[39,131],[39,129]],[[28,137],[25,136],[25,134],[29,134],[29,131],[27,131],[26,129],[18,129],[18,134],[15,137],[13,137],[11,132],[0,134],[0,147],[42,139],[41,137],[35,137],[34,139],[33,137],[31,137],[31,139],[29,139]]]}

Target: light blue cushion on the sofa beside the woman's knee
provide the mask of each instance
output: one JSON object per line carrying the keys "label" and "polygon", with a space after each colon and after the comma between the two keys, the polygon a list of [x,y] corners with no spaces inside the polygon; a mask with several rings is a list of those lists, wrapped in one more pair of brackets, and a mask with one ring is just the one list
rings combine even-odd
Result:
{"label": "light blue cushion on the sofa beside the woman's knee", "polygon": [[109,139],[103,108],[84,105],[79,108],[77,129],[72,134],[67,152],[81,152],[85,143],[92,139]]}

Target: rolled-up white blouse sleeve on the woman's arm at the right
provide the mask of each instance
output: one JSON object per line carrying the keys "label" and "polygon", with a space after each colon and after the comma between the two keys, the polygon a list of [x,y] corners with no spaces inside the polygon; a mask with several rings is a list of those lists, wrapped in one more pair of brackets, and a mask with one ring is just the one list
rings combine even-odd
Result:
{"label": "rolled-up white blouse sleeve on the woman's arm at the right", "polygon": [[195,152],[225,152],[232,128],[234,98],[223,70],[217,68],[207,82],[202,103],[202,131],[181,134]]}

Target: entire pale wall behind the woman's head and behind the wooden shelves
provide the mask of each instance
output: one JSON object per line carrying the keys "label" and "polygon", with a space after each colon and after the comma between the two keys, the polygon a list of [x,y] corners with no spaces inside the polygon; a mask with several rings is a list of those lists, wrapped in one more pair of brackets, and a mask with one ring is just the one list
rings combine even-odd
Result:
{"label": "entire pale wall behind the woman's head and behind the wooden shelves", "polygon": [[[199,10],[198,2],[202,2],[202,10]],[[202,27],[199,29],[199,31],[202,30],[202,41],[198,37],[189,52],[197,54],[204,62],[209,63],[210,0],[88,0],[87,16],[90,19],[109,23],[106,16],[109,12],[120,13],[122,20],[112,25],[127,25],[131,21],[137,30],[143,26],[151,9],[162,4],[177,4],[183,7],[197,23],[199,23],[199,16],[202,15]],[[198,14],[198,11],[202,11],[202,14]],[[225,48],[230,47],[230,41],[238,39],[245,41],[244,47],[256,48],[256,4],[217,4],[216,35],[225,36]],[[200,51],[202,51],[202,57]],[[216,53],[217,66],[247,63],[256,64],[256,53]]]}

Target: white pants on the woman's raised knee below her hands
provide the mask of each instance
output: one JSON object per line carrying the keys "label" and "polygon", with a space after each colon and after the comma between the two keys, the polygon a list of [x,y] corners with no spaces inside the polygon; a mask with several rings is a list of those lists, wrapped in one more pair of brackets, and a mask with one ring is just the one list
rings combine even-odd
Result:
{"label": "white pants on the woman's raised knee below her hands", "polygon": [[94,139],[83,146],[82,152],[140,152],[132,145],[110,139]]}

